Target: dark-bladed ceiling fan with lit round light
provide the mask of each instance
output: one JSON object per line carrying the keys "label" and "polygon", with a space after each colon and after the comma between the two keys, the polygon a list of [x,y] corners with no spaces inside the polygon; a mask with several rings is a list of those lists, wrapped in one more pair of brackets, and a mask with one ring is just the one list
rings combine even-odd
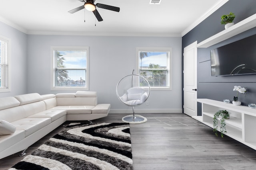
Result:
{"label": "dark-bladed ceiling fan with lit round light", "polygon": [[92,11],[98,21],[103,21],[99,12],[97,11],[96,7],[103,8],[103,9],[106,9],[106,10],[116,11],[116,12],[120,11],[120,8],[115,7],[115,6],[99,4],[99,3],[94,4],[95,0],[79,0],[79,1],[84,2],[84,5],[79,6],[75,9],[73,9],[73,10],[68,11],[70,14],[73,14],[73,13],[78,12],[78,11],[85,8],[88,11]]}

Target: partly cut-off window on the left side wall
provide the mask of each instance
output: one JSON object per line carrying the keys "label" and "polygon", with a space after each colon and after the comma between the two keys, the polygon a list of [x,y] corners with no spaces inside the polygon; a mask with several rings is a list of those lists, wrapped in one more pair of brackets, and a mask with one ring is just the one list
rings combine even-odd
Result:
{"label": "partly cut-off window on the left side wall", "polygon": [[10,92],[10,39],[0,36],[0,92]]}

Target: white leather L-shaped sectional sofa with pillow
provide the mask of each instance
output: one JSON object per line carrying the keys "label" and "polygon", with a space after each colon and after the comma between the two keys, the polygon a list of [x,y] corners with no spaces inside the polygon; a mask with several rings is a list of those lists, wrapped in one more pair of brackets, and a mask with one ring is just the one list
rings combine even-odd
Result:
{"label": "white leather L-shaped sectional sofa with pillow", "polygon": [[0,159],[25,151],[65,121],[98,119],[109,111],[110,104],[98,104],[97,93],[89,91],[0,98]]}

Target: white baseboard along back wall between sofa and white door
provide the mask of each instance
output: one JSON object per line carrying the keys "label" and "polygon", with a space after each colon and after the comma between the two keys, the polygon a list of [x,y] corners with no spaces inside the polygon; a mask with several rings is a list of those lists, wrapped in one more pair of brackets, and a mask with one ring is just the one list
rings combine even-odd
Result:
{"label": "white baseboard along back wall between sofa and white door", "polygon": [[[137,113],[182,113],[182,109],[136,109],[134,108],[135,114]],[[132,114],[131,109],[110,109],[109,113],[128,113]]]}

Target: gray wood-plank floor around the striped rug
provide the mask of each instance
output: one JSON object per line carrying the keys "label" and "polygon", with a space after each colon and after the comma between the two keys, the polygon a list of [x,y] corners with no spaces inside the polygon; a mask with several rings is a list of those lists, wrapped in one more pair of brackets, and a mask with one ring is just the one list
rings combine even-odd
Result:
{"label": "gray wood-plank floor around the striped rug", "polygon": [[[130,124],[134,170],[254,170],[256,150],[224,136],[182,113],[140,114],[148,121]],[[125,114],[109,114],[93,122],[122,122]],[[68,125],[69,122],[64,123]],[[27,154],[58,133],[60,126],[29,147]],[[0,160],[0,170],[11,168],[19,153]]]}

